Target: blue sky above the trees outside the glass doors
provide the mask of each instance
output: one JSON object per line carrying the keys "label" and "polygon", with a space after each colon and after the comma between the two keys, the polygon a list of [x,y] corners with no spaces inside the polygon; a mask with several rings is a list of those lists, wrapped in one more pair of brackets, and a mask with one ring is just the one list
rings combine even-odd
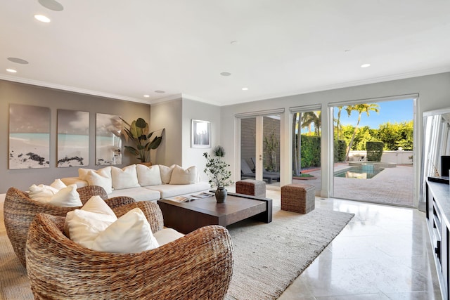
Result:
{"label": "blue sky above the trees outside the glass doors", "polygon": [[[378,104],[380,112],[370,111],[368,117],[366,112],[363,112],[359,127],[369,126],[371,129],[378,129],[378,126],[383,123],[401,123],[413,119],[413,99],[385,101],[375,104]],[[334,114],[335,119],[337,119],[337,107],[335,107]],[[356,122],[358,122],[358,112],[353,111],[352,115],[348,117],[347,111],[342,110],[340,122],[342,125],[356,126]]]}

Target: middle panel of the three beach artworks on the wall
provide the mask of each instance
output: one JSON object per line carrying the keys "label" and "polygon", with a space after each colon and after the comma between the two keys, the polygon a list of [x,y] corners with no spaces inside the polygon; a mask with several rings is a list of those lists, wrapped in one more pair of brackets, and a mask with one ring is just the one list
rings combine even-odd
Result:
{"label": "middle panel of the three beach artworks on the wall", "polygon": [[57,167],[89,165],[89,112],[58,110]]}

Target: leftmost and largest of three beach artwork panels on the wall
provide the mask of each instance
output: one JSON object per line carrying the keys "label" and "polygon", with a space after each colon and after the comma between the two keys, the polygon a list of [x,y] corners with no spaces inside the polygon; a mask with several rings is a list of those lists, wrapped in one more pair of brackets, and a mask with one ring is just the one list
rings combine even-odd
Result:
{"label": "leftmost and largest of three beach artwork panels on the wall", "polygon": [[49,168],[50,108],[9,105],[9,169]]}

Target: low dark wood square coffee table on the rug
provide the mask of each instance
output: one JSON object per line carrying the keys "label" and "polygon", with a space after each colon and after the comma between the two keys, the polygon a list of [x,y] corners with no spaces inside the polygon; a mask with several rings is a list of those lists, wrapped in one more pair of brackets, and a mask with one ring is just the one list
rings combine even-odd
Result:
{"label": "low dark wood square coffee table on the rug", "polygon": [[229,193],[225,203],[217,203],[214,196],[174,202],[158,200],[164,225],[180,233],[191,231],[207,225],[228,226],[252,218],[265,223],[272,221],[272,200],[248,195]]}

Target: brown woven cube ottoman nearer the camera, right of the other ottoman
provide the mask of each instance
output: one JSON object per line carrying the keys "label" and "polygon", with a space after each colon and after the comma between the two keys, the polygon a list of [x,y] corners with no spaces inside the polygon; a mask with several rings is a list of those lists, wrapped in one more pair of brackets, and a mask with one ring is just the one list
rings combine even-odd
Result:
{"label": "brown woven cube ottoman nearer the camera, right of the other ottoman", "polygon": [[314,210],[316,188],[308,184],[288,184],[281,187],[281,209],[307,214]]}

